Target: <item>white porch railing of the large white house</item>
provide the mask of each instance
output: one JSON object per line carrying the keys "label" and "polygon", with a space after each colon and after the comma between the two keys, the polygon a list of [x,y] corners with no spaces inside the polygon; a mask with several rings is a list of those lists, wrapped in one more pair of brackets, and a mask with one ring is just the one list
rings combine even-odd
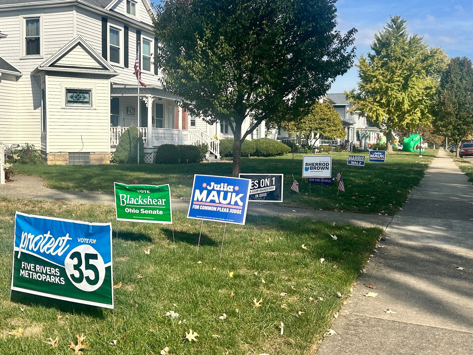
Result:
{"label": "white porch railing of the large white house", "polygon": [[[110,146],[116,147],[120,141],[120,136],[125,132],[128,127],[110,127]],[[182,132],[182,138],[181,138]],[[145,142],[148,138],[148,129],[146,127],[140,127],[140,135],[143,137]],[[194,130],[178,130],[173,128],[153,128],[151,131],[152,146],[158,146],[162,144],[185,144],[185,145],[197,145],[206,143],[209,146],[209,152],[214,154],[217,159],[220,159],[220,142],[209,134],[202,131]],[[207,156],[208,158],[208,156]]]}

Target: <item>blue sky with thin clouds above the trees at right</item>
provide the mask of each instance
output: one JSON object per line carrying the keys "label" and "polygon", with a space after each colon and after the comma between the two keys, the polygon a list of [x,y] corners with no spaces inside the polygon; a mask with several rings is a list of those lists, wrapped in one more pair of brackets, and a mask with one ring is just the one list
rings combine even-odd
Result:
{"label": "blue sky with thin clouds above the trees at right", "polygon": [[[423,35],[427,43],[442,47],[449,57],[473,59],[473,0],[339,0],[337,9],[340,31],[358,29],[357,56],[369,51],[375,33],[383,29],[389,15],[401,15],[410,34]],[[335,80],[330,92],[350,90],[357,81],[353,67]]]}

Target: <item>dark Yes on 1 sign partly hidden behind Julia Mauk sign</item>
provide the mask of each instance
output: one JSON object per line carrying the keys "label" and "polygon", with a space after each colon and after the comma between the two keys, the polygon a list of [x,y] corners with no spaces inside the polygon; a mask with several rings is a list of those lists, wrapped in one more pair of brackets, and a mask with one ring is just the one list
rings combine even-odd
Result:
{"label": "dark Yes on 1 sign partly hidden behind Julia Mauk sign", "polygon": [[283,174],[240,174],[250,179],[249,201],[282,202]]}

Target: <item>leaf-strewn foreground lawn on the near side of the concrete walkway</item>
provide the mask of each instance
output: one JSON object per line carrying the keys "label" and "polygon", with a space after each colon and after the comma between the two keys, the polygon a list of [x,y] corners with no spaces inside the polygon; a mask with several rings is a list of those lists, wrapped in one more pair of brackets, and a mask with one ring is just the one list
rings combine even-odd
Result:
{"label": "leaf-strewn foreground lawn on the near side of the concrete walkway", "polygon": [[[382,232],[248,216],[246,226],[227,226],[219,260],[222,224],[204,222],[196,255],[200,221],[183,213],[174,213],[175,244],[168,225],[114,221],[114,284],[123,284],[114,290],[111,311],[22,293],[9,302],[15,211],[88,222],[115,218],[110,206],[0,199],[1,355],[73,354],[68,344],[76,333],[86,336],[85,355],[159,354],[166,346],[169,355],[305,354],[330,327]],[[254,298],[263,299],[261,307],[254,308]],[[164,317],[170,310],[179,317]],[[220,320],[223,313],[227,319]],[[19,327],[23,336],[8,335]],[[189,328],[200,335],[197,343],[182,340]],[[59,337],[59,346],[45,344],[49,337]]]}

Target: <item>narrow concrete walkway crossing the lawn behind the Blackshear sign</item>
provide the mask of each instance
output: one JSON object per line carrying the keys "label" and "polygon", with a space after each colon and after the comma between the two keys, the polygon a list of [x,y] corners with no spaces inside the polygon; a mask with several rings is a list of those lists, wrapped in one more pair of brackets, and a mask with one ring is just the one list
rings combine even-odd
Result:
{"label": "narrow concrete walkway crossing the lawn behind the Blackshear sign", "polygon": [[[43,179],[33,176],[15,175],[5,185],[0,185],[0,197],[13,199],[33,199],[43,201],[67,202],[71,204],[114,204],[114,196],[96,192],[74,192],[54,190],[43,185]],[[173,210],[187,211],[189,200],[173,199]],[[306,217],[312,220],[337,223],[350,223],[359,227],[378,226],[383,229],[392,221],[392,216],[377,214],[334,212],[311,210],[297,207],[280,207],[278,204],[251,202],[248,206],[249,214],[266,216]]]}

